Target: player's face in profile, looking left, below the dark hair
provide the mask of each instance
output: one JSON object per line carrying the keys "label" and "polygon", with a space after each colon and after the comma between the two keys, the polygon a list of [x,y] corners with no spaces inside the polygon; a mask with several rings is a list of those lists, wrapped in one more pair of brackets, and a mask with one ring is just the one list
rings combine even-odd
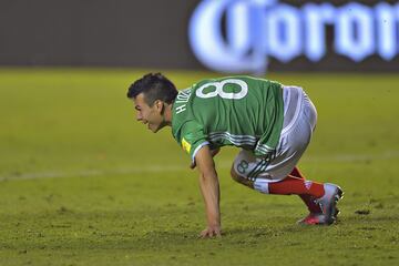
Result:
{"label": "player's face in profile, looking left, below the dark hair", "polygon": [[155,133],[164,126],[164,117],[162,115],[162,102],[156,101],[153,106],[150,106],[149,104],[146,104],[143,93],[140,93],[135,99],[133,99],[133,102],[134,109],[137,111],[137,121],[146,124],[149,130]]}

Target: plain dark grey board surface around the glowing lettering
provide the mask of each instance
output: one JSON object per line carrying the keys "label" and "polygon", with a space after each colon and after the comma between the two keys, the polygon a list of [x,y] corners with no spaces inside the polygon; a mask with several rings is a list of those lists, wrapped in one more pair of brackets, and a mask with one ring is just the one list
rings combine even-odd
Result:
{"label": "plain dark grey board surface around the glowing lettering", "polygon": [[[0,0],[0,65],[203,69],[187,39],[188,18],[198,2]],[[310,1],[284,2],[300,6]],[[358,2],[372,6],[380,1]],[[327,33],[331,39],[332,29]],[[398,71],[399,57],[385,62],[374,55],[360,64],[332,53],[318,63],[304,57],[287,64],[272,59],[269,70]]]}

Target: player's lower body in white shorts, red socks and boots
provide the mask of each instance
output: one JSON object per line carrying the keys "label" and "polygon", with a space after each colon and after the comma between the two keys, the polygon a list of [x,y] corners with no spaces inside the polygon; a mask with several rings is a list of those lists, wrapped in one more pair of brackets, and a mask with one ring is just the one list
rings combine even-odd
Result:
{"label": "player's lower body in white shorts, red socks and boots", "polygon": [[252,152],[242,151],[233,164],[232,177],[262,193],[299,195],[310,216],[319,215],[321,207],[323,215],[307,219],[308,224],[331,224],[338,214],[336,203],[341,197],[341,190],[334,184],[306,181],[295,168],[316,126],[316,109],[301,89],[294,88],[288,94],[291,95],[291,108],[285,110],[285,125],[276,156],[265,163]]}

